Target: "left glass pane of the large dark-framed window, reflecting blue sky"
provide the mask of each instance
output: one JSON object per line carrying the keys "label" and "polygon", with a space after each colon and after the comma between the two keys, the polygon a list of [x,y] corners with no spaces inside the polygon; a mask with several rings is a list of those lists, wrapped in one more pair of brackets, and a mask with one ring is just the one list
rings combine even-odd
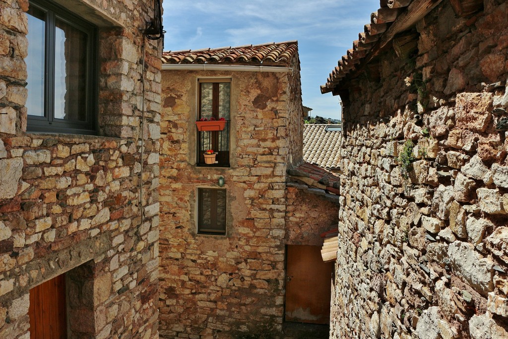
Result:
{"label": "left glass pane of the large dark-framed window, reflecting blue sky", "polygon": [[28,56],[26,57],[26,109],[29,115],[44,116],[44,64],[46,45],[46,14],[34,6],[28,12]]}

